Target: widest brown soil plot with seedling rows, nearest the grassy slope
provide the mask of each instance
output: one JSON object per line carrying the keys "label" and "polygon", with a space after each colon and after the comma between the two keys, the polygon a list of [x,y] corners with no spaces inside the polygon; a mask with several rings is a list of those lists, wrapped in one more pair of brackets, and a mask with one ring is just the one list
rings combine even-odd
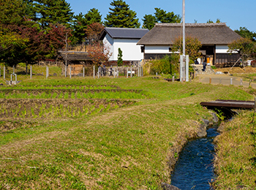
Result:
{"label": "widest brown soil plot with seedling rows, nearest the grassy slope", "polygon": [[0,118],[80,118],[134,103],[118,99],[0,99]]}

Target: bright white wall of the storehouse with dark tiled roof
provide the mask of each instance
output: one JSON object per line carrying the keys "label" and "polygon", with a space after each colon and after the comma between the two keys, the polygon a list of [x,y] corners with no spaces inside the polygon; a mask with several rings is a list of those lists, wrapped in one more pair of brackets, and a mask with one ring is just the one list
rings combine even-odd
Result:
{"label": "bright white wall of the storehouse with dark tiled roof", "polygon": [[118,48],[121,48],[124,61],[140,61],[143,59],[140,45],[137,45],[139,39],[112,39],[108,34],[103,39],[105,46],[110,47],[112,56],[110,61],[117,61]]}

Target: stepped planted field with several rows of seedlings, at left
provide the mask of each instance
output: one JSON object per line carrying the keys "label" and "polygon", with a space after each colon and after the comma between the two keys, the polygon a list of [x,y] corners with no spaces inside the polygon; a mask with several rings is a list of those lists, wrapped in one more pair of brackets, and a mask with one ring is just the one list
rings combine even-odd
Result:
{"label": "stepped planted field with several rows of seedlings, at left", "polygon": [[0,88],[0,132],[20,126],[17,124],[20,121],[10,122],[10,119],[80,118],[147,98],[146,91],[124,90],[118,86],[4,86]]}

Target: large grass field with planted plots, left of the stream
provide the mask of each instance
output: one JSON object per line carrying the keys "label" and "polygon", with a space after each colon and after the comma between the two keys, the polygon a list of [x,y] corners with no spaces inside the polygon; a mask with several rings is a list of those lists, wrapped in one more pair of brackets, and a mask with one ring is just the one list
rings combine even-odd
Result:
{"label": "large grass field with planted plots, left of the stream", "polygon": [[[150,76],[21,80],[0,87],[0,189],[160,189],[211,118],[200,102],[253,99],[234,86]],[[90,90],[97,96],[83,96]]]}

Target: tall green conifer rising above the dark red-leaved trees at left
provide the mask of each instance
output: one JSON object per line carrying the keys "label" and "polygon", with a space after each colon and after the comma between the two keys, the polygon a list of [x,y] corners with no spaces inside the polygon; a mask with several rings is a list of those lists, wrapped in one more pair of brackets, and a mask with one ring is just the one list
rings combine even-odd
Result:
{"label": "tall green conifer rising above the dark red-leaved trees at left", "polygon": [[48,28],[50,23],[69,26],[73,12],[70,4],[65,0],[37,0],[29,1],[31,19],[37,21],[42,28]]}

